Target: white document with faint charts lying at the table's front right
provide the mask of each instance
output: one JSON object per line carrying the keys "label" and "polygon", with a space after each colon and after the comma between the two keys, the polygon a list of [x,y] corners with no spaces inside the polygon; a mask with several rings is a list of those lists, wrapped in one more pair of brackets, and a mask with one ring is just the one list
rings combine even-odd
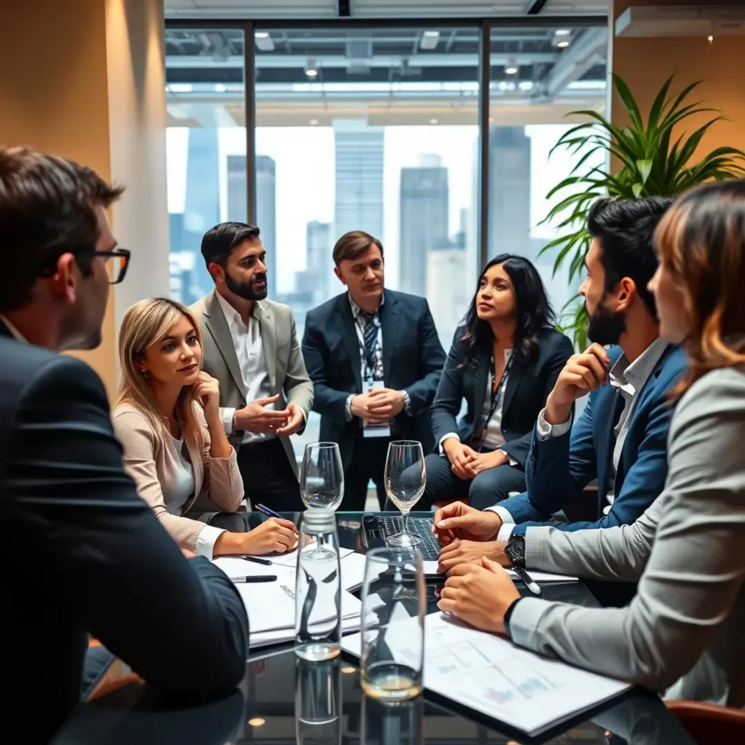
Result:
{"label": "white document with faint charts lying at the table's front right", "polygon": [[[408,618],[387,627],[385,641],[393,659],[410,659],[413,621]],[[342,648],[359,657],[361,635],[343,638]],[[631,688],[451,621],[443,613],[425,618],[424,685],[530,736]]]}

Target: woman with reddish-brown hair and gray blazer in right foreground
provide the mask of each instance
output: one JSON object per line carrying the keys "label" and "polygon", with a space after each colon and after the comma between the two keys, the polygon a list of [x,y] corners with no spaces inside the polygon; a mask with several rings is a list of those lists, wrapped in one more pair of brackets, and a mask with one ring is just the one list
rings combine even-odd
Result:
{"label": "woman with reddish-brown hair and gray blazer in right foreground", "polygon": [[[521,598],[482,558],[448,573],[440,609],[671,699],[744,706],[745,180],[681,197],[659,224],[656,251],[660,335],[689,360],[673,391],[665,489],[634,524],[531,527],[522,553],[513,539],[503,546],[516,565],[638,581],[637,595],[606,609]],[[461,513],[447,527],[473,538],[478,515]],[[500,563],[510,562],[502,554]]]}

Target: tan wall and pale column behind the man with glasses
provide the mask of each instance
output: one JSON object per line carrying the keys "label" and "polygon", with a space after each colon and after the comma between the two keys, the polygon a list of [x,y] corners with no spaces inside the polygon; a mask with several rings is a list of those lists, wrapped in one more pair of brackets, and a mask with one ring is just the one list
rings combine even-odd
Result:
{"label": "tan wall and pale column behind the man with glasses", "polygon": [[112,288],[103,343],[79,355],[110,396],[122,305],[168,293],[162,26],[162,0],[0,1],[0,143],[72,158],[127,186],[112,222],[133,261]]}

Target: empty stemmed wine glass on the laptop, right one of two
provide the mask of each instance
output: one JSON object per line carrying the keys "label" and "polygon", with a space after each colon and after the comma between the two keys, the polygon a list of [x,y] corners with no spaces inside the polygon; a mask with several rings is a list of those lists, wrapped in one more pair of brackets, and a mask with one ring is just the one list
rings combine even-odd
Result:
{"label": "empty stemmed wine glass on the laptop, right one of two", "polygon": [[422,443],[417,443],[416,440],[390,443],[385,459],[384,481],[388,498],[401,510],[403,516],[401,533],[388,536],[387,545],[404,548],[419,545],[422,539],[409,533],[408,520],[411,508],[422,498],[427,484]]}

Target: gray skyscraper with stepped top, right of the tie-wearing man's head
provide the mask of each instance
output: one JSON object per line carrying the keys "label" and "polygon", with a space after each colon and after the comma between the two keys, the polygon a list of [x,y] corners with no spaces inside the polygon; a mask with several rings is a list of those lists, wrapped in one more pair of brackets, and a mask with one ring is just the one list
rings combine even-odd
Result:
{"label": "gray skyscraper with stepped top, right of the tie-wearing man's head", "polygon": [[448,169],[440,156],[420,156],[415,168],[401,169],[399,286],[427,294],[428,251],[448,248]]}

